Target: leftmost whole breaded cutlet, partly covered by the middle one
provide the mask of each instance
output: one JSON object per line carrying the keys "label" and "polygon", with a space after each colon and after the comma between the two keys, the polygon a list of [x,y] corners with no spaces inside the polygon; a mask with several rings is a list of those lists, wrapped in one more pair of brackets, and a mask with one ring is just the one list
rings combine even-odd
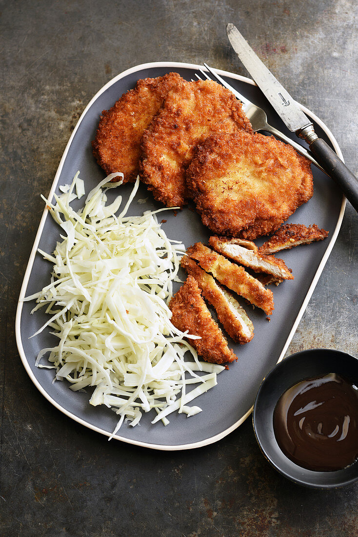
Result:
{"label": "leftmost whole breaded cutlet, partly covered by the middle one", "polygon": [[122,172],[123,183],[137,177],[144,129],[180,79],[178,73],[170,72],[157,78],[138,80],[133,90],[123,93],[112,108],[102,112],[92,147],[98,164],[108,175]]}

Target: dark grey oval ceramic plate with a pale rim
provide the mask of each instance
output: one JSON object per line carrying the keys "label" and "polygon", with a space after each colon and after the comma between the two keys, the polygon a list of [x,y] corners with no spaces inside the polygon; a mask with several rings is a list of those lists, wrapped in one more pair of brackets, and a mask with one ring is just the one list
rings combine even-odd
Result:
{"label": "dark grey oval ceramic plate with a pale rim", "polygon": [[[133,88],[140,78],[156,77],[166,72],[177,71],[182,77],[190,80],[194,77],[196,69],[198,66],[186,63],[149,63],[129,69],[108,82],[93,97],[79,119],[61,159],[49,199],[52,199],[54,192],[59,192],[60,185],[71,182],[77,170],[80,170],[80,177],[85,181],[87,193],[105,177],[103,170],[96,164],[91,149],[91,140],[96,133],[102,110],[111,107],[122,93]],[[294,137],[252,81],[225,71],[218,72],[244,96],[265,108],[272,125],[288,136]],[[303,110],[315,122],[317,134],[331,143],[342,157],[337,142],[327,127],[306,108]],[[183,414],[173,414],[170,416],[170,424],[164,427],[161,422],[151,425],[154,415],[150,412],[143,416],[140,425],[136,427],[122,425],[119,434],[114,438],[157,449],[193,448],[223,438],[249,416],[262,379],[286,352],[332,250],[344,214],[345,199],[331,179],[318,169],[313,169],[313,175],[315,193],[307,204],[297,209],[290,222],[306,225],[316,223],[328,230],[330,235],[325,241],[282,252],[281,257],[293,269],[295,279],[273,288],[275,311],[271,322],[266,320],[265,314],[259,309],[247,308],[254,324],[255,337],[251,343],[244,346],[230,342],[238,361],[230,365],[229,371],[223,371],[218,375],[218,384],[215,388],[196,400],[195,404],[202,408],[201,413],[191,418]],[[124,200],[132,186],[120,187]],[[119,189],[116,194],[118,192]],[[109,191],[108,198],[112,199],[114,195],[115,192]],[[138,204],[137,200],[143,198],[148,198],[146,204]],[[147,209],[158,207],[159,204],[141,185],[131,204],[129,214],[142,214]],[[170,238],[182,240],[186,246],[197,241],[207,242],[208,230],[202,225],[199,216],[188,208],[184,208],[177,216],[168,211],[165,213],[165,219],[167,222],[163,224],[163,228]],[[45,209],[19,297],[16,337],[20,357],[35,386],[56,408],[77,422],[109,436],[117,421],[114,412],[107,408],[92,407],[88,402],[88,394],[73,393],[67,382],[53,383],[53,370],[35,367],[35,358],[39,350],[51,346],[54,337],[44,331],[39,336],[28,339],[45,323],[47,316],[42,311],[30,315],[34,304],[23,303],[21,300],[26,295],[39,291],[48,283],[51,265],[36,254],[36,250],[41,248],[52,252],[58,238],[59,228]],[[184,278],[184,274],[182,277]]]}

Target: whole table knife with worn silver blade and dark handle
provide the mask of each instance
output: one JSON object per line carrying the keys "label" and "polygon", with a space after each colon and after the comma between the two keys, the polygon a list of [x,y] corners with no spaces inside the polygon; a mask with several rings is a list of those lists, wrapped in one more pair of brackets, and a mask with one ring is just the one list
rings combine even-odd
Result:
{"label": "whole table knife with worn silver blade and dark handle", "polygon": [[262,93],[274,107],[284,124],[303,138],[317,162],[340,186],[346,198],[358,212],[358,180],[328,144],[317,136],[311,120],[302,112],[271,71],[261,62],[249,43],[233,24],[227,25],[227,35],[232,48],[242,61]]}

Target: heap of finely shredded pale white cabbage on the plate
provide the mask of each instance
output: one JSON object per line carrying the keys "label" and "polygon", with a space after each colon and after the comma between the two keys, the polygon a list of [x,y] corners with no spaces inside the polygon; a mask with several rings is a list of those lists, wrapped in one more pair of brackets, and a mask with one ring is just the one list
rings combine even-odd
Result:
{"label": "heap of finely shredded pale white cabbage on the plate", "polygon": [[[152,423],[164,425],[173,411],[188,417],[201,412],[187,403],[215,386],[224,369],[200,362],[170,321],[167,304],[185,246],[160,228],[156,213],[166,209],[126,216],[137,179],[116,216],[121,197],[106,205],[106,190],[119,184],[109,183],[114,176],[123,178],[116,173],[104,179],[81,211],[70,206],[84,194],[79,172],[55,195],[55,205],[45,200],[62,241],[52,255],[39,250],[54,265],[51,280],[25,299],[36,299],[32,313],[46,307],[51,316],[34,336],[49,326],[59,338],[58,345],[40,351],[36,365],[55,368],[55,380],[67,379],[74,391],[94,387],[90,403],[105,404],[120,416],[112,436],[123,420],[134,426],[151,409],[157,413]],[[184,359],[187,352],[190,360]],[[48,353],[52,365],[42,365]],[[193,384],[198,386],[189,389]]]}

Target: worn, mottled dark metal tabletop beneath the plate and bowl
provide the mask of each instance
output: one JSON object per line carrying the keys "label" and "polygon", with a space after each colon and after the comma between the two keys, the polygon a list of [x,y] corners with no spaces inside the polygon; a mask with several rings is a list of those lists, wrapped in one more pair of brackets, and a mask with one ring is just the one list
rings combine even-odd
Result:
{"label": "worn, mottled dark metal tabletop beneath the plate and bowl", "polygon": [[[262,457],[251,419],[214,445],[156,452],[62,415],[21,365],[14,315],[43,202],[85,105],[119,72],[151,61],[247,75],[236,24],[291,95],[331,128],[357,175],[355,0],[2,2],[0,13],[1,535],[171,537],[358,534],[358,484],[319,491]],[[357,215],[344,221],[287,354],[357,354]]]}

